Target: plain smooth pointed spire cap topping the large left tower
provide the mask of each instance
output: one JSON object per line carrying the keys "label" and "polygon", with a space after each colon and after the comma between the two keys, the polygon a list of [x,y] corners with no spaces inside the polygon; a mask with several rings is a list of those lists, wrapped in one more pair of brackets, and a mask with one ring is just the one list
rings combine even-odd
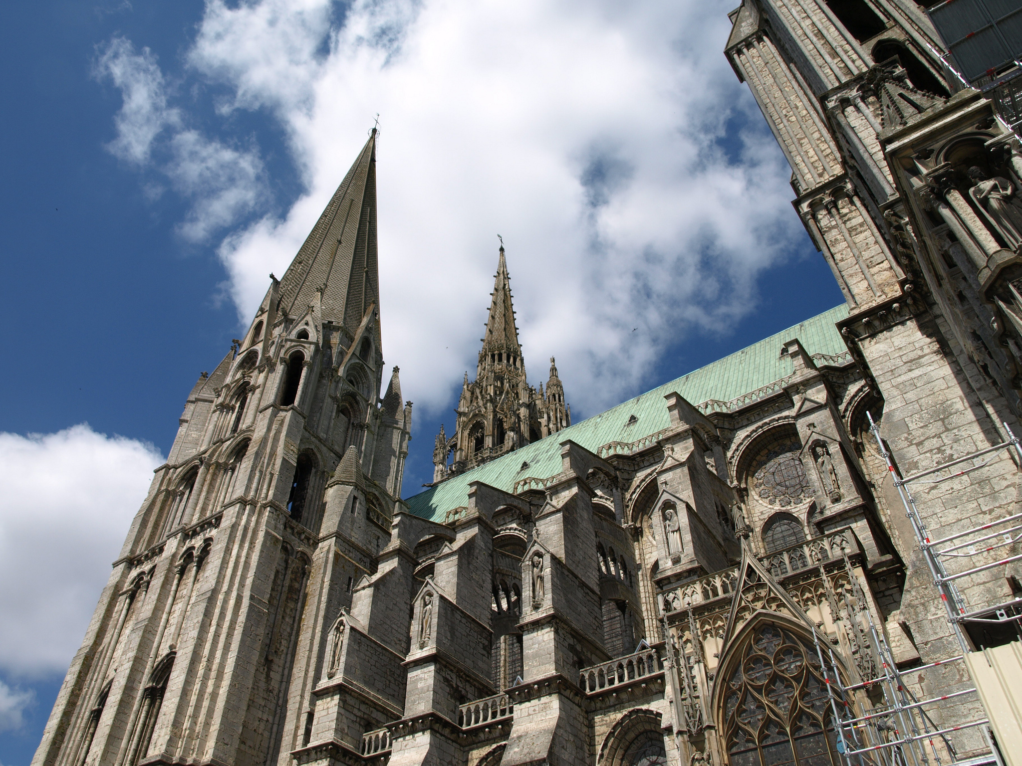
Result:
{"label": "plain smooth pointed spire cap topping the large left tower", "polygon": [[323,290],[324,321],[355,333],[379,301],[376,129],[280,280],[280,310],[300,315]]}

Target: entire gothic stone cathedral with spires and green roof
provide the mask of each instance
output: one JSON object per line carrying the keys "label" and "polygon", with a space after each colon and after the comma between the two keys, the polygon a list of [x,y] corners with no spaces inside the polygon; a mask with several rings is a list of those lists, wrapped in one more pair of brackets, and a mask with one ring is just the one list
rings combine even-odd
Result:
{"label": "entire gothic stone cathedral with spires and green roof", "polygon": [[373,132],[189,394],[34,765],[1018,764],[1022,147],[932,5],[731,13],[841,305],[572,424],[502,247],[406,498]]}

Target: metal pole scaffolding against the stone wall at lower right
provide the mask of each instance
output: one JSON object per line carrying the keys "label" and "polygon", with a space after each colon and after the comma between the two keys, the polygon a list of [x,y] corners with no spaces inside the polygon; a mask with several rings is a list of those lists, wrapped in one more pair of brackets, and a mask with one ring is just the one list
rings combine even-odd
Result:
{"label": "metal pole scaffolding against the stone wall at lower right", "polygon": [[[964,578],[973,577],[995,567],[1022,560],[1022,555],[1006,556],[996,561],[980,563],[954,573],[948,572],[945,567],[945,562],[948,560],[967,561],[974,559],[974,557],[986,557],[992,550],[1018,542],[1022,539],[1022,514],[1010,515],[976,525],[940,539],[930,539],[930,533],[916,507],[916,498],[912,494],[910,484],[915,483],[916,486],[924,483],[939,484],[964,476],[986,466],[993,459],[994,453],[1000,450],[1014,450],[1022,461],[1022,448],[1020,448],[1019,440],[1006,423],[1004,424],[1005,429],[1010,437],[1008,440],[902,478],[880,437],[879,427],[874,423],[872,416],[869,417],[870,430],[876,438],[880,453],[901,497],[905,516],[912,523],[916,541],[929,568],[940,601],[944,605],[947,622],[958,639],[962,654],[916,666],[902,673],[894,662],[893,653],[887,643],[884,631],[877,629],[870,610],[864,609],[863,614],[869,623],[868,633],[871,649],[880,672],[875,678],[862,683],[842,686],[833,653],[828,651],[827,655],[829,656],[825,655],[818,642],[817,652],[820,663],[829,679],[828,692],[834,716],[838,721],[835,727],[837,749],[848,766],[852,766],[852,764],[855,766],[873,764],[876,766],[923,766],[931,763],[936,764],[936,766],[951,763],[961,766],[981,766],[981,764],[1004,766],[1001,754],[993,745],[987,717],[980,717],[956,726],[940,726],[934,722],[930,712],[928,712],[928,710],[933,710],[933,706],[946,704],[953,700],[980,702],[976,697],[977,689],[974,683],[970,684],[968,688],[919,700],[909,684],[904,682],[903,676],[928,668],[963,662],[966,656],[973,651],[972,641],[966,628],[968,624],[1012,625],[1022,635],[1022,629],[1019,628],[1019,620],[1022,620],[1022,599],[970,609],[957,584]],[[981,462],[977,462],[981,459]],[[962,466],[959,471],[947,473],[949,469],[959,466]],[[922,481],[927,477],[934,478],[926,482]],[[856,593],[856,595],[861,603],[865,604],[863,595],[861,593]],[[965,675],[969,677],[968,671]],[[851,704],[852,693],[858,690],[871,690],[874,691],[872,697],[876,700],[875,692],[878,688],[883,692],[883,702],[874,704],[872,710],[865,715],[856,715]],[[976,707],[981,708],[978,704]],[[956,748],[956,740],[959,740],[956,734],[973,728],[979,728],[982,732],[986,743],[986,753],[962,760],[959,757],[959,748]]]}

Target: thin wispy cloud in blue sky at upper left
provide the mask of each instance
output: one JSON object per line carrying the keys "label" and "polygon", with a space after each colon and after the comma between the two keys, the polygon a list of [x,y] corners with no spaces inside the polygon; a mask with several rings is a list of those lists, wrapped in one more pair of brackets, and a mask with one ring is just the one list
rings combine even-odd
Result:
{"label": "thin wispy cloud in blue sky at upper left", "polygon": [[[259,148],[250,142],[231,146],[185,127],[181,110],[168,105],[164,74],[148,48],[136,53],[129,40],[114,37],[102,49],[94,75],[109,79],[123,98],[113,118],[118,136],[106,148],[139,167],[151,165],[191,203],[177,228],[184,239],[204,242],[267,200]],[[149,199],[161,191],[151,182],[143,187]]]}

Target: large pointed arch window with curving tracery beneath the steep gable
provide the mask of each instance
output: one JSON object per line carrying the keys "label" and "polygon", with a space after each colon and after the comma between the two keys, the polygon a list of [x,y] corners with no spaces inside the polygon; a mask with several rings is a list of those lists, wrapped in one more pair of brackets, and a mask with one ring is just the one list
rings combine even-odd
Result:
{"label": "large pointed arch window with curving tracery beneath the steep gable", "polygon": [[762,625],[739,644],[724,678],[718,715],[731,766],[841,764],[827,684],[808,641]]}

